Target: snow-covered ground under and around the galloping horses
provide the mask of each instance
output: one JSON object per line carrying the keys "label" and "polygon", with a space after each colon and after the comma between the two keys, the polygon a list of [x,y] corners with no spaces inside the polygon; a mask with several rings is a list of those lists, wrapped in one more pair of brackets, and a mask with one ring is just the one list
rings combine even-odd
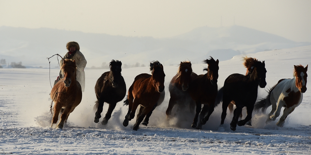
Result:
{"label": "snow-covered ground under and around the galloping horses", "polygon": [[[219,88],[230,74],[246,72],[242,56],[220,61]],[[247,56],[265,60],[267,86],[265,89],[259,88],[258,93],[258,98],[262,98],[267,95],[266,90],[279,79],[293,78],[294,65],[311,64],[311,46],[264,51]],[[57,60],[55,58],[52,61]],[[205,64],[193,64],[193,71],[202,74],[203,66]],[[48,100],[51,91],[49,75],[53,84],[59,70],[0,69],[0,154],[311,153],[311,90],[304,93],[302,104],[287,117],[284,127],[277,127],[276,122],[265,124],[266,114],[253,113],[253,126],[237,126],[236,131],[231,131],[232,114],[227,110],[224,127],[220,128],[221,108],[218,106],[203,125],[203,130],[195,130],[190,127],[194,114],[177,114],[172,120],[166,120],[168,84],[177,69],[177,64],[164,66],[165,100],[151,115],[148,127],[141,125],[138,131],[131,129],[135,119],[129,122],[128,127],[122,125],[128,110],[127,106],[122,106],[123,102],[118,103],[106,126],[93,122],[95,82],[108,70],[85,70],[86,89],[82,102],[69,116],[67,126],[59,130],[49,127],[52,116],[49,112],[51,101]],[[149,68],[122,70],[127,88],[140,73],[149,73]],[[105,104],[102,115],[107,108]],[[271,108],[267,112],[269,110]]]}

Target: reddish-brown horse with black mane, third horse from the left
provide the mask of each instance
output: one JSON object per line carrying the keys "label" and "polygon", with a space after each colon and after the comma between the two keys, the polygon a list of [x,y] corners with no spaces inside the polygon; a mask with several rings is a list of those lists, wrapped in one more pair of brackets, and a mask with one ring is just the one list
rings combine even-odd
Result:
{"label": "reddish-brown horse with black mane, third horse from the left", "polygon": [[[158,61],[153,61],[152,64],[152,75],[147,73],[137,75],[133,84],[128,89],[128,97],[124,101],[124,105],[129,106],[128,113],[123,121],[123,126],[128,126],[128,121],[134,118],[138,105],[141,105],[136,123],[133,126],[133,130],[136,131],[147,114],[146,118],[148,117],[149,119],[152,110],[154,110],[158,104],[161,92],[164,91],[165,74],[163,65]],[[146,122],[146,124],[148,124],[148,122]]]}

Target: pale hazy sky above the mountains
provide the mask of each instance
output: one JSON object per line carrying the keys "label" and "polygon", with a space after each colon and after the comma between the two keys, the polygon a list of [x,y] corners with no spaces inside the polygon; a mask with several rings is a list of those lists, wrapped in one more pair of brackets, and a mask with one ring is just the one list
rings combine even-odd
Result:
{"label": "pale hazy sky above the mountains", "polygon": [[0,0],[0,26],[163,38],[234,24],[311,42],[311,1]]}

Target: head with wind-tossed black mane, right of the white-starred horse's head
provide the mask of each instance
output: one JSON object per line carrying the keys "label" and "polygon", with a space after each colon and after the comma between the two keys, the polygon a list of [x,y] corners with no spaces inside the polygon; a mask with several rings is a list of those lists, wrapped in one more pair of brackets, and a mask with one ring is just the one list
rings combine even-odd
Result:
{"label": "head with wind-tossed black mane, right of the white-starred horse's head", "polygon": [[217,84],[218,79],[218,70],[219,70],[219,60],[216,61],[210,56],[210,60],[203,60],[204,64],[208,64],[207,68],[204,68],[203,71],[207,71],[207,78],[211,80],[212,85]]}

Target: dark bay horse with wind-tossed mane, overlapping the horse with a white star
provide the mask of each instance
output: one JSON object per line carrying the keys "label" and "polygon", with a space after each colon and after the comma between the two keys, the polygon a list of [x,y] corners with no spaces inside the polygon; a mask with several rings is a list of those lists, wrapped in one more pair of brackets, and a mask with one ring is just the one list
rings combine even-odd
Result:
{"label": "dark bay horse with wind-tossed mane, overlapping the horse with a white star", "polygon": [[[213,113],[218,92],[217,79],[219,60],[217,59],[215,61],[210,57],[210,59],[204,60],[203,63],[208,64],[208,67],[203,69],[207,71],[207,73],[194,78],[189,87],[190,96],[196,102],[196,114],[191,125],[191,127],[195,129],[202,129],[202,125],[208,121],[210,115]],[[201,111],[202,104],[204,104],[204,106]],[[199,113],[201,120],[197,126]]]}

